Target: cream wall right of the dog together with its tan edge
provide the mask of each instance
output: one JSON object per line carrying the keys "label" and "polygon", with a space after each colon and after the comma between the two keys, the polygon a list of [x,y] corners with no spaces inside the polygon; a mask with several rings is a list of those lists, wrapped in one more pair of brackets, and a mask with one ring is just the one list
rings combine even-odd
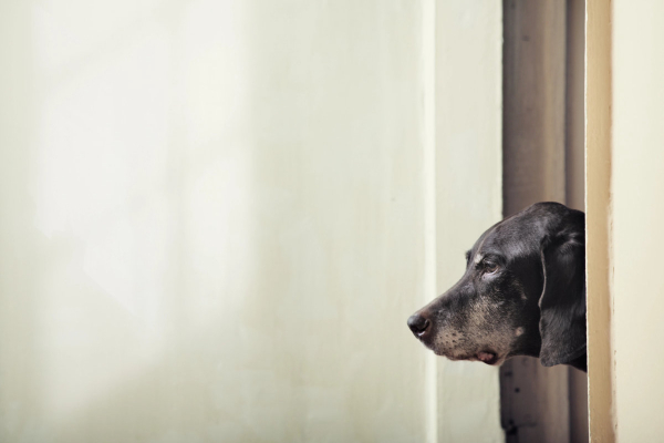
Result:
{"label": "cream wall right of the dog together with its tan edge", "polygon": [[591,436],[654,442],[664,431],[664,4],[610,4],[589,2],[588,228],[603,237],[588,251]]}

